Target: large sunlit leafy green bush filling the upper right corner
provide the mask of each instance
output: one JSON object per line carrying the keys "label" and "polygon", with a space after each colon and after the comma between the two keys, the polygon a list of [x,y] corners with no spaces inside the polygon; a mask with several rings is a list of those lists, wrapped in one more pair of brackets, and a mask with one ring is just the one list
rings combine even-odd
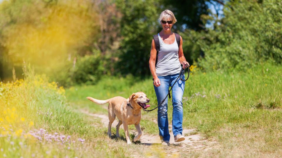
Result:
{"label": "large sunlit leafy green bush filling the upper right corner", "polygon": [[[194,35],[204,58],[198,64],[206,70],[245,69],[266,60],[282,61],[282,4],[279,0],[230,1],[225,5],[224,18],[214,30]],[[188,38],[184,37],[184,38]]]}

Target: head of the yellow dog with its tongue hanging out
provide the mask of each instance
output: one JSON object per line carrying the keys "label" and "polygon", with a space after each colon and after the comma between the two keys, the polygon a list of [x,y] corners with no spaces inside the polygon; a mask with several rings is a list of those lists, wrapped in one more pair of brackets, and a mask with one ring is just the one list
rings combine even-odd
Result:
{"label": "head of the yellow dog with its tongue hanging out", "polygon": [[150,102],[150,99],[147,98],[147,95],[143,92],[132,93],[129,97],[129,102],[134,109],[147,109],[150,105],[145,103]]}

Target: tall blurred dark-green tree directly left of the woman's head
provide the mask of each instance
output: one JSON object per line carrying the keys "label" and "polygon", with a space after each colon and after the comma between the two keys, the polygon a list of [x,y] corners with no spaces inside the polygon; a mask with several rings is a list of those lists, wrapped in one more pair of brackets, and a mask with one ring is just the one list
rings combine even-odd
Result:
{"label": "tall blurred dark-green tree directly left of the woman's head", "polygon": [[149,56],[153,35],[157,33],[160,9],[155,0],[117,0],[122,13],[120,47],[117,68],[122,74],[149,74]]}

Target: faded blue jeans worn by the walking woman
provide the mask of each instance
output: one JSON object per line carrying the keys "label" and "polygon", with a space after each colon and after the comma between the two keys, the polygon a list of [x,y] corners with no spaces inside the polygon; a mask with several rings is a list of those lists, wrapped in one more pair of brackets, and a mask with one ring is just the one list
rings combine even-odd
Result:
{"label": "faded blue jeans worn by the walking woman", "polygon": [[[155,88],[155,92],[157,95],[158,105],[162,102],[164,97],[166,97],[169,87],[173,85],[175,80],[178,78],[178,74],[174,75],[166,75],[166,76],[158,76],[160,79],[161,85]],[[185,76],[183,76],[185,80]],[[176,136],[177,134],[182,135],[182,119],[183,119],[183,106],[182,106],[182,96],[184,92],[184,85],[185,82],[178,79],[175,85],[172,87],[172,132],[173,135]],[[167,97],[168,98],[168,97]],[[169,130],[168,130],[168,119],[167,119],[167,100],[158,107],[158,126],[160,132],[161,140],[168,140],[170,139]]]}

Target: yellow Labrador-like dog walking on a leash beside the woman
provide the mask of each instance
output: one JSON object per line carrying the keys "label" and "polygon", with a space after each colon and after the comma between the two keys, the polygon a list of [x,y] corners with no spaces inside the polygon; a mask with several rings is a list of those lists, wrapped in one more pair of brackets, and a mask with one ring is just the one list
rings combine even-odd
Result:
{"label": "yellow Labrador-like dog walking on a leash beside the woman", "polygon": [[128,132],[128,125],[135,125],[135,128],[138,131],[138,134],[133,139],[134,142],[140,139],[142,135],[140,121],[141,121],[141,112],[142,109],[147,109],[150,105],[146,105],[146,103],[150,102],[150,99],[147,98],[147,95],[143,92],[132,93],[132,95],[125,99],[124,97],[113,97],[107,100],[98,100],[91,97],[87,97],[87,99],[92,102],[102,105],[105,103],[109,103],[108,106],[108,115],[109,115],[109,126],[108,126],[108,136],[112,136],[111,127],[112,123],[115,120],[115,116],[117,116],[118,124],[117,124],[117,137],[120,137],[119,128],[120,125],[123,124],[126,142],[127,144],[131,144]]}

